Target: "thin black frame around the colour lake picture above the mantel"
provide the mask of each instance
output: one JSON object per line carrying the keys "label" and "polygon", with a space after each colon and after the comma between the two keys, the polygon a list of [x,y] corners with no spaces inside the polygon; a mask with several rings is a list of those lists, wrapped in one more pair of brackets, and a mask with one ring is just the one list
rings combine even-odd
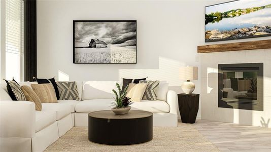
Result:
{"label": "thin black frame around the colour lake picture above the mantel", "polygon": [[[226,3],[232,3],[232,2],[236,2],[236,1],[240,1],[240,0],[234,0],[234,1],[230,1],[230,2],[224,2],[224,3],[219,3],[219,4],[214,4],[214,5],[209,5],[206,6],[204,9],[204,14],[206,15],[206,8],[207,7],[211,7],[211,6],[216,6],[216,5],[221,5],[221,4],[226,4]],[[204,17],[204,20],[206,18]],[[253,36],[243,36],[243,37],[231,37],[231,38],[226,38],[226,39],[220,39],[220,40],[206,40],[206,24],[204,26],[204,39],[205,39],[205,43],[209,43],[209,42],[219,42],[219,41],[229,41],[229,40],[240,40],[240,39],[250,39],[250,38],[255,38],[255,37],[265,37],[265,36],[271,36],[271,33],[269,34],[265,34],[265,35],[253,35]]]}

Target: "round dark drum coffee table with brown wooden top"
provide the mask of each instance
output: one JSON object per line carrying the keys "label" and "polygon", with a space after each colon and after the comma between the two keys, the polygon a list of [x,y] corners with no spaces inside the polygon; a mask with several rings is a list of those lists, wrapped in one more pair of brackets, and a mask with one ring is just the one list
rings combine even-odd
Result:
{"label": "round dark drum coffee table with brown wooden top", "polygon": [[125,115],[115,115],[111,110],[88,114],[89,141],[109,144],[138,144],[152,140],[152,113],[130,110]]}

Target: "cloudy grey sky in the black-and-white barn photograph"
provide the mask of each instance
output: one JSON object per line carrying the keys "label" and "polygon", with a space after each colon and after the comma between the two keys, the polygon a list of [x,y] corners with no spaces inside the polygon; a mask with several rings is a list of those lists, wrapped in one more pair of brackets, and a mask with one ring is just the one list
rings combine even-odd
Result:
{"label": "cloudy grey sky in the black-and-white barn photograph", "polygon": [[136,22],[75,22],[75,42],[98,39],[108,45],[136,46],[136,32]]}

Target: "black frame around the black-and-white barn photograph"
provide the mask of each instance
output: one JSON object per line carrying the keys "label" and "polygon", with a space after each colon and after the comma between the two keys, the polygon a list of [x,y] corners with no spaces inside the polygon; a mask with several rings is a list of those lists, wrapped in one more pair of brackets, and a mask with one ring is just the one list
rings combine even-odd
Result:
{"label": "black frame around the black-and-white barn photograph", "polygon": [[[79,63],[75,62],[75,23],[76,22],[135,22],[136,24],[136,62],[130,62],[130,63]],[[73,63],[74,64],[137,64],[137,20],[73,20]]]}

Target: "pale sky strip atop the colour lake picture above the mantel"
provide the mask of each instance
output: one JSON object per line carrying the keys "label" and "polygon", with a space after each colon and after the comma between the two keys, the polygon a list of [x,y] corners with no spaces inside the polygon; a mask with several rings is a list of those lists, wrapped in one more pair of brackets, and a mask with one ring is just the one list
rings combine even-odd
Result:
{"label": "pale sky strip atop the colour lake picture above the mantel", "polygon": [[271,0],[240,0],[235,2],[224,3],[221,5],[214,5],[206,7],[206,14],[212,12],[227,12],[229,10],[246,9],[253,7],[260,7],[271,4]]}

